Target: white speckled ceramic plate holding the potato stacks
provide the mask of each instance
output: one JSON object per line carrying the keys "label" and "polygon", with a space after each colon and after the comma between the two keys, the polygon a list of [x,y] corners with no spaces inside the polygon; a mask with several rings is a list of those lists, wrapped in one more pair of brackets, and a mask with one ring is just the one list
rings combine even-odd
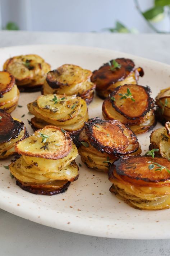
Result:
{"label": "white speckled ceramic plate holding the potato stacks", "polygon": [[[39,54],[51,64],[52,69],[65,64],[73,63],[83,68],[95,70],[112,58],[131,58],[136,66],[144,69],[144,77],[139,84],[149,85],[152,96],[162,88],[170,86],[170,66],[164,63],[151,61],[130,54],[114,52],[101,48],[61,45],[29,45],[0,48],[0,65],[11,56],[19,54]],[[12,113],[13,117],[22,119],[29,133],[33,133],[28,125],[27,103],[36,99],[38,93],[21,93],[19,105],[23,107]],[[102,100],[95,98],[89,105],[90,118],[102,117]],[[25,114],[24,118],[21,116]],[[157,125],[156,128],[160,127]],[[138,136],[142,145],[142,154],[148,150],[150,133]],[[111,182],[107,175],[88,169],[81,163],[80,176],[72,182],[68,190],[60,195],[34,195],[20,189],[15,180],[11,179],[9,170],[0,163],[0,208],[15,215],[75,233],[95,235],[110,238],[128,239],[163,239],[170,238],[170,210],[140,211],[131,208],[123,201],[119,201],[109,192]],[[23,227],[24,228],[24,227]]]}

